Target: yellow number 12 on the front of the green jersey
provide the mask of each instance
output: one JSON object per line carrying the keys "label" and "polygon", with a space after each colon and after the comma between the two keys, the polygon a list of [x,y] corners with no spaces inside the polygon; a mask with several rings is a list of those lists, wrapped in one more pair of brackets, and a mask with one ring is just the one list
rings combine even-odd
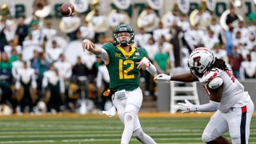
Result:
{"label": "yellow number 12 on the front of the green jersey", "polygon": [[[126,69],[123,70],[123,66],[126,66],[130,64],[130,66]],[[118,70],[119,70],[119,79],[129,79],[129,78],[134,78],[134,74],[128,74],[130,70],[134,69],[134,61],[127,59],[127,60],[122,60],[119,59],[118,63]]]}

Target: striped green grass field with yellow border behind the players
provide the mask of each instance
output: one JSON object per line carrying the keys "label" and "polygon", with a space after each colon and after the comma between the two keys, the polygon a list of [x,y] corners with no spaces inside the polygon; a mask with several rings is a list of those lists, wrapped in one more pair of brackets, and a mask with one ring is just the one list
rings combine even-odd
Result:
{"label": "striped green grass field with yellow border behind the players", "polygon": [[[202,143],[202,130],[211,114],[140,114],[143,130],[158,143]],[[256,115],[250,142],[256,143]],[[0,143],[119,143],[123,126],[117,117],[94,114],[1,116]],[[228,137],[228,134],[225,134]],[[132,138],[131,142],[140,143]]]}

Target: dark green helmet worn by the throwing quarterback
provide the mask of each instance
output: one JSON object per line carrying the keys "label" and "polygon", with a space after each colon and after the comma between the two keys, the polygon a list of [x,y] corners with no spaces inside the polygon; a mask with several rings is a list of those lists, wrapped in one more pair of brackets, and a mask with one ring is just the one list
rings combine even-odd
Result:
{"label": "dark green helmet worn by the throwing quarterback", "polygon": [[[127,42],[127,41],[122,41],[120,42],[118,40],[118,34],[121,33],[121,32],[128,32],[130,34],[130,40]],[[129,46],[129,45],[132,45],[134,43],[134,30],[126,25],[126,24],[122,24],[120,26],[118,26],[118,28],[116,28],[114,30],[114,42],[119,45],[119,46]]]}

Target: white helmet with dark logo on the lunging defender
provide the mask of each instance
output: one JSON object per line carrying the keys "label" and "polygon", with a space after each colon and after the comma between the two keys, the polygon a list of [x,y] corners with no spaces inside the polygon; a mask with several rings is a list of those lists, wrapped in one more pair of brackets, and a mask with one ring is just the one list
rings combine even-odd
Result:
{"label": "white helmet with dark logo on the lunging defender", "polygon": [[206,70],[215,62],[214,54],[206,48],[200,47],[192,51],[188,66],[193,74],[202,78]]}

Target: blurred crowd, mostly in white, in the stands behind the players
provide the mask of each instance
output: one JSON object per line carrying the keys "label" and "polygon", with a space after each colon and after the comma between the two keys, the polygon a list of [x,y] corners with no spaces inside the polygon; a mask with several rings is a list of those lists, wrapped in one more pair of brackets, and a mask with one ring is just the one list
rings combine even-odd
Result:
{"label": "blurred crowd, mostly in white, in the stands behind the players", "polygon": [[[226,61],[238,79],[256,78],[256,5],[254,12],[240,19],[234,6],[226,15],[226,30],[220,19],[204,8],[198,8],[194,24],[189,15],[171,10],[166,22],[157,21],[150,6],[142,11],[141,26],[135,31],[134,46],[144,47],[148,58],[159,73],[170,74],[172,69],[187,69],[187,58],[194,48],[204,46],[214,51],[217,58]],[[126,19],[122,10],[115,10],[110,26]],[[110,98],[102,96],[110,79],[102,60],[88,51],[82,51],[82,40],[88,38],[101,47],[112,42],[114,29],[105,29],[92,23],[105,22],[98,10],[88,22],[79,17],[62,18],[64,25],[80,22],[78,26],[61,27],[65,36],[50,21],[32,14],[27,18],[0,17],[0,103],[10,106],[13,113],[34,114],[38,107],[56,114],[75,112],[82,102],[88,110],[105,110]],[[110,17],[109,17],[110,18]],[[17,26],[13,26],[13,21]],[[111,23],[112,22],[112,23]],[[124,21],[125,22],[125,21]],[[156,23],[157,22],[157,23]],[[154,26],[157,25],[157,26]],[[96,28],[96,30],[95,30]],[[157,98],[153,76],[141,72],[144,95]]]}

